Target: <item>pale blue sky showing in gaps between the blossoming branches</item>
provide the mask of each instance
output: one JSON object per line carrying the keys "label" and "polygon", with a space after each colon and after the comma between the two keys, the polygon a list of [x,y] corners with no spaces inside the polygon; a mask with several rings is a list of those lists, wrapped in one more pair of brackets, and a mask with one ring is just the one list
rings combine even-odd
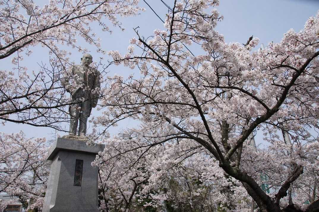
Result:
{"label": "pale blue sky showing in gaps between the blossoming branches", "polygon": [[[162,18],[165,19],[167,14],[167,7],[160,0],[145,0],[153,10]],[[171,5],[174,0],[163,0],[166,4]],[[41,1],[44,4],[45,0]],[[136,17],[120,18],[122,26],[126,28],[124,32],[116,27],[111,27],[112,34],[102,32],[98,29],[96,24],[90,27],[95,28],[94,32],[102,38],[102,48],[107,51],[118,50],[122,55],[127,51],[130,45],[129,40],[136,37],[133,27],[139,26],[139,34],[148,37],[153,34],[154,29],[164,29],[161,20],[154,14],[154,12],[145,4],[144,0],[140,0],[139,6],[146,9]],[[240,42],[246,43],[250,36],[260,39],[260,44],[266,46],[269,42],[279,42],[289,29],[293,28],[295,31],[300,31],[306,20],[310,16],[315,16],[319,10],[319,0],[221,0],[217,10],[224,16],[224,20],[219,22],[216,30],[223,34],[226,42]],[[84,41],[83,46],[90,49]],[[73,52],[74,51],[74,52]],[[71,61],[80,63],[81,53],[75,49],[72,51]],[[30,57],[25,57],[22,62],[24,66],[28,67],[29,71],[38,70],[37,63],[48,61],[48,50],[41,49],[41,47],[33,48],[33,54]],[[192,49],[193,54],[198,54],[198,50]],[[92,49],[93,60],[98,61],[100,57],[104,58],[104,62],[111,60],[107,55],[101,55],[94,52]],[[13,55],[15,56],[15,55]],[[1,60],[2,69],[11,69],[11,57]],[[134,71],[123,66],[111,66],[108,68],[108,75],[122,75],[124,77],[139,71]],[[103,86],[103,85],[102,85]],[[93,116],[97,116],[100,112],[96,108],[92,111]],[[92,115],[91,115],[92,117]],[[91,118],[90,117],[90,118]],[[89,118],[89,119],[90,119]],[[135,122],[126,120],[120,123],[116,128],[110,129],[110,134],[113,135],[123,128],[131,127]],[[55,139],[56,132],[51,128],[36,128],[26,124],[6,123],[1,127],[1,131],[6,133],[15,133],[23,130],[27,137],[47,137],[48,139]],[[91,130],[89,126],[88,131]],[[65,132],[60,132],[60,135],[65,135]],[[256,143],[262,143],[262,138],[259,136]]]}

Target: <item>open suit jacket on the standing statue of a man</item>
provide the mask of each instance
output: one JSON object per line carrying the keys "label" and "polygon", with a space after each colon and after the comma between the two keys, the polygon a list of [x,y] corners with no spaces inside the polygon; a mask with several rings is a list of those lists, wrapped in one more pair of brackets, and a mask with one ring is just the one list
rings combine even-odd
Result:
{"label": "open suit jacket on the standing statue of a man", "polygon": [[85,68],[82,65],[74,65],[72,67],[72,75],[75,77],[75,82],[78,87],[71,91],[72,98],[77,98],[78,93],[81,93],[85,100],[90,102],[90,108],[88,115],[90,115],[92,107],[96,107],[99,98],[99,91],[96,89],[100,89],[100,72],[91,67]]}

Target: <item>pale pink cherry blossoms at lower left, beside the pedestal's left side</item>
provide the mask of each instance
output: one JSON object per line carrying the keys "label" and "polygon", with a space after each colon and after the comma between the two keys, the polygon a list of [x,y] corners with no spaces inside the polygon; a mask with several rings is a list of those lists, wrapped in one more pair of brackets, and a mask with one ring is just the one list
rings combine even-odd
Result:
{"label": "pale pink cherry blossoms at lower left, beside the pedestal's left side", "polygon": [[[45,138],[28,139],[22,131],[0,133],[0,192],[31,200],[31,207],[40,207],[44,200],[49,175],[46,160],[50,142]],[[1,204],[1,210],[10,202]]]}

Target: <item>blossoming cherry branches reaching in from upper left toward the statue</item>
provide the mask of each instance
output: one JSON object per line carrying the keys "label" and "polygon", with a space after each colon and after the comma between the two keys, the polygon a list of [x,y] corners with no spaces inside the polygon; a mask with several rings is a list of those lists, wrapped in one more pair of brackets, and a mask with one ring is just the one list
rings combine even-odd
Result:
{"label": "blossoming cherry branches reaching in from upper left toward the statue", "polygon": [[[65,106],[70,100],[61,82],[69,77],[65,70],[72,65],[70,49],[88,52],[77,43],[83,39],[97,52],[105,53],[100,48],[101,38],[90,24],[96,23],[109,33],[108,23],[123,29],[117,17],[136,15],[140,10],[137,3],[138,0],[51,0],[40,6],[33,0],[1,0],[0,59],[15,55],[11,56],[14,70],[0,70],[3,123],[63,129],[59,123],[68,121],[63,111],[67,111]],[[31,72],[21,65],[21,60],[31,55],[35,46],[48,50],[50,62]]]}

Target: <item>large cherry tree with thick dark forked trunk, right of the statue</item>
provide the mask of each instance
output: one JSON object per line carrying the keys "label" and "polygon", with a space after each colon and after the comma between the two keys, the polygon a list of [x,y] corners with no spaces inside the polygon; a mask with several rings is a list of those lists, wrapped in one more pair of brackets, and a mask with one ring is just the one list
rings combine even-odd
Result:
{"label": "large cherry tree with thick dark forked trunk, right of the statue", "polygon": [[[142,77],[109,77],[103,115],[94,123],[105,130],[128,118],[141,124],[127,136],[109,138],[94,162],[104,209],[122,201],[122,210],[130,210],[143,195],[151,199],[144,206],[163,204],[172,194],[157,189],[157,183],[175,172],[181,185],[178,169],[195,166],[191,174],[200,173],[201,183],[223,179],[220,186],[243,208],[249,208],[244,201],[251,204],[249,195],[261,211],[319,210],[319,141],[311,133],[319,127],[319,14],[300,32],[291,29],[279,43],[254,51],[257,38],[245,45],[225,43],[214,30],[223,18],[214,8],[218,4],[175,0],[165,29],[146,39],[135,28],[137,38],[124,56],[108,53],[114,59],[110,64],[137,68]],[[190,45],[202,54],[193,56],[185,48]],[[252,149],[254,130],[263,132],[269,148]],[[219,191],[216,199],[223,195],[220,186],[211,187]]]}

